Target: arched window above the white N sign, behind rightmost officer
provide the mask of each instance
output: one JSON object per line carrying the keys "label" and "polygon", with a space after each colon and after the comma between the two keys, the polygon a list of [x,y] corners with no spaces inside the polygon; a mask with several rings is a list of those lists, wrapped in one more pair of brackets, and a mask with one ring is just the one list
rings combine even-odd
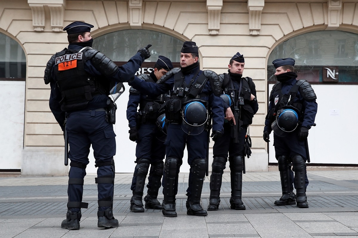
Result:
{"label": "arched window above the white N sign, behind rightmost officer", "polygon": [[267,61],[267,79],[275,81],[272,61],[295,59],[297,79],[310,82],[358,82],[358,35],[344,31],[315,31],[277,45]]}

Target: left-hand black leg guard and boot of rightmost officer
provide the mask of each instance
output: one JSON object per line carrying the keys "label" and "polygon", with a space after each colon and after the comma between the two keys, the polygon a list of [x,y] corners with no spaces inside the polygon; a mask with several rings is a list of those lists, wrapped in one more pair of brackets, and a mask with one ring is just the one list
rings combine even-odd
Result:
{"label": "left-hand black leg guard and boot of rightmost officer", "polygon": [[282,196],[280,200],[275,201],[275,205],[284,206],[284,205],[293,205],[295,202],[295,194],[291,192],[291,182],[290,182],[290,167],[291,162],[289,157],[286,155],[280,155],[278,157],[280,179],[281,179],[281,188]]}

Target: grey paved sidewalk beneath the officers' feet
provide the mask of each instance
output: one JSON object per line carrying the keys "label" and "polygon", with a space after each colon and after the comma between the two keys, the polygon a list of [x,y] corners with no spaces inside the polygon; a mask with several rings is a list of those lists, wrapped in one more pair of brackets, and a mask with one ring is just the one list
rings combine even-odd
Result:
{"label": "grey paved sidewalk beneath the officers' feet", "polygon": [[[246,210],[231,210],[230,174],[224,173],[221,206],[207,217],[186,214],[187,173],[180,174],[176,211],[165,218],[161,210],[131,213],[132,174],[116,174],[113,212],[120,226],[97,227],[95,174],[84,179],[81,228],[67,230],[61,222],[67,212],[68,177],[0,178],[0,238],[166,238],[166,237],[315,237],[358,238],[358,171],[308,171],[308,209],[296,205],[275,206],[281,196],[279,172],[249,172],[243,175]],[[146,193],[146,190],[144,191]],[[202,204],[208,205],[209,178],[205,178]],[[163,199],[159,191],[159,201]]]}

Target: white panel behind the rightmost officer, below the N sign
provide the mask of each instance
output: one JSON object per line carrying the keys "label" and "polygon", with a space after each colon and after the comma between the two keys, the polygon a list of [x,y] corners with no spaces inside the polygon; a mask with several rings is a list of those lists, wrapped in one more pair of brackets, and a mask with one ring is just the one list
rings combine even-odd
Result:
{"label": "white panel behind the rightmost officer, below the N sign", "polygon": [[[317,95],[316,127],[309,130],[311,163],[358,164],[358,85],[312,85]],[[269,85],[272,88],[272,84]],[[340,93],[338,93],[340,92]],[[277,163],[270,135],[269,162]]]}

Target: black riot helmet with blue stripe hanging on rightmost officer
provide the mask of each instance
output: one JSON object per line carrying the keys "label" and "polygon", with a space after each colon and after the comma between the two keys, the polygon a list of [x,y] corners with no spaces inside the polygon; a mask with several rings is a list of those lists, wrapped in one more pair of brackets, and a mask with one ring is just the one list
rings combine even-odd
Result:
{"label": "black riot helmet with blue stripe hanging on rightmost officer", "polygon": [[298,125],[299,114],[292,106],[284,106],[276,115],[276,120],[271,124],[274,133],[284,137],[289,132],[293,132]]}

